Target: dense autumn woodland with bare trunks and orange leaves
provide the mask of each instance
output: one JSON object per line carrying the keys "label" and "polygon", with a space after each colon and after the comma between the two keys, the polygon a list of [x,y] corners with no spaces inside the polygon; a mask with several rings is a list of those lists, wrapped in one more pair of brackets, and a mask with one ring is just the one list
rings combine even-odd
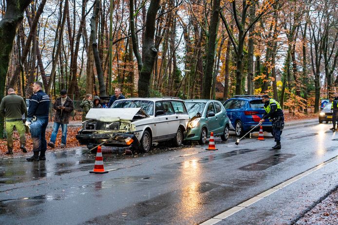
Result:
{"label": "dense autumn woodland with bare trunks and orange leaves", "polygon": [[127,97],[268,93],[318,112],[338,87],[336,0],[0,0],[0,17],[0,99],[8,87],[29,97],[39,80],[75,100],[114,87]]}

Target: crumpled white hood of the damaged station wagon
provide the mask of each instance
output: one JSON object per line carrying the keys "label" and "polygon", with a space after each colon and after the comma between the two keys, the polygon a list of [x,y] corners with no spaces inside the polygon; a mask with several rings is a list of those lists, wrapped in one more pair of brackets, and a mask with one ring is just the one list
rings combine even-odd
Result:
{"label": "crumpled white hood of the damaged station wagon", "polygon": [[141,108],[91,108],[86,115],[86,119],[103,122],[131,121],[137,113],[149,117]]}

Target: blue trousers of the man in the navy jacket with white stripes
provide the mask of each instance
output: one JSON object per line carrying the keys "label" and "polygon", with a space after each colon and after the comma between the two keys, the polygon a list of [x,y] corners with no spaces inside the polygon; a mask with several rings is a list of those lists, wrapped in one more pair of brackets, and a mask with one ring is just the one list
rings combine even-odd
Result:
{"label": "blue trousers of the man in the navy jacket with white stripes", "polygon": [[44,153],[47,150],[46,128],[48,125],[47,117],[38,117],[37,121],[32,121],[30,125],[31,136],[33,139],[33,152]]}

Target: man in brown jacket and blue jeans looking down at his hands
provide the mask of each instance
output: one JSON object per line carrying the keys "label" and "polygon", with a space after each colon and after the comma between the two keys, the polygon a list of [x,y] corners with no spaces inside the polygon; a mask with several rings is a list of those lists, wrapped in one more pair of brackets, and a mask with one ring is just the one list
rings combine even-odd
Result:
{"label": "man in brown jacket and blue jeans looking down at his hands", "polygon": [[55,118],[54,118],[54,126],[53,132],[51,135],[51,139],[48,142],[48,146],[51,148],[55,148],[56,135],[59,127],[62,129],[62,137],[61,137],[61,148],[66,147],[66,139],[67,139],[67,124],[69,123],[69,118],[71,116],[71,112],[74,110],[73,100],[71,100],[67,96],[67,91],[65,89],[60,91],[61,97],[56,98],[56,101],[53,105],[54,110],[56,110]]}

